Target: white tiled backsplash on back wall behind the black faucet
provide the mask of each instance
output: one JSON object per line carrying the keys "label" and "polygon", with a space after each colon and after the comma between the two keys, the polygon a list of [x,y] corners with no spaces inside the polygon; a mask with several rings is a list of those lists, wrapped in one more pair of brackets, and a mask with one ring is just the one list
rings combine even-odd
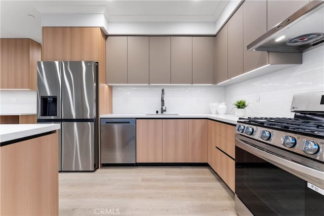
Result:
{"label": "white tiled backsplash on back wall behind the black faucet", "polygon": [[224,87],[113,87],[113,113],[160,113],[161,89],[165,89],[166,113],[211,113],[209,104],[224,102]]}

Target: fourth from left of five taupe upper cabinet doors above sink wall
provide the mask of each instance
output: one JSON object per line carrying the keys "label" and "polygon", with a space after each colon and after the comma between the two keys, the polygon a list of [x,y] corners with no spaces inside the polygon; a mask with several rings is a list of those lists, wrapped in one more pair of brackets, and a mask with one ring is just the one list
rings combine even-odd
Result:
{"label": "fourth from left of five taupe upper cabinet doors above sink wall", "polygon": [[171,84],[192,83],[192,37],[171,37]]}

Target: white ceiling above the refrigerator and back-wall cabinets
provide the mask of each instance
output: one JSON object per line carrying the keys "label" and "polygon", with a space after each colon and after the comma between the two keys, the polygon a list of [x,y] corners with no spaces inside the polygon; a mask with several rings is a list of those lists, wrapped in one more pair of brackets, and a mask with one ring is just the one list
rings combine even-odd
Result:
{"label": "white ceiling above the refrigerator and back-wall cabinets", "polygon": [[[87,16],[101,15],[104,17],[106,27],[96,21],[86,24],[107,28],[105,32],[110,33],[109,25],[119,28],[112,28],[113,34],[132,34],[132,31],[123,31],[127,23],[129,26],[138,25],[146,28],[138,29],[136,34],[149,34],[149,28],[160,23],[164,27],[173,25],[175,29],[168,34],[179,34],[179,26],[195,23],[195,26],[213,27],[219,20],[223,11],[230,1],[0,1],[0,36],[1,38],[31,38],[42,42],[42,26],[82,26]],[[239,2],[239,1],[236,1]],[[30,16],[32,15],[32,16]],[[83,19],[80,19],[83,16]],[[49,22],[49,17],[50,21]],[[74,19],[74,22],[71,20]],[[80,23],[75,23],[78,20]],[[83,22],[82,22],[83,20]],[[82,22],[82,23],[81,23]],[[139,23],[141,25],[139,25]],[[177,26],[174,24],[177,23]],[[122,28],[122,27],[123,28]],[[126,27],[127,28],[127,27]],[[191,26],[194,28],[194,26]],[[118,30],[119,29],[119,30]],[[131,28],[130,28],[131,29]],[[200,29],[201,34],[206,34]],[[190,34],[192,31],[183,32]],[[209,31],[208,31],[209,32]],[[154,31],[153,34],[159,34]],[[135,34],[135,31],[134,31]]]}

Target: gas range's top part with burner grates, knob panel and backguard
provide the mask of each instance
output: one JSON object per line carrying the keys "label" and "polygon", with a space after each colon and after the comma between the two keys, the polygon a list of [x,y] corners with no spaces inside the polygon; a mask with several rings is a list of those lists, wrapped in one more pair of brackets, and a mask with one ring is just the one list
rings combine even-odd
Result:
{"label": "gas range's top part with burner grates, knob panel and backguard", "polygon": [[236,134],[324,163],[324,92],[294,95],[294,118],[239,118]]}

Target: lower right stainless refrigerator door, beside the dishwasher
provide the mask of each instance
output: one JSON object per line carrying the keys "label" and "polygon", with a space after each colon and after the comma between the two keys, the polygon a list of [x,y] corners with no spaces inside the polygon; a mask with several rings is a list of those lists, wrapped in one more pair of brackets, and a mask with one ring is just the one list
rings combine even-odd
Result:
{"label": "lower right stainless refrigerator door, beside the dishwasher", "polygon": [[98,166],[94,122],[62,122],[62,171],[91,171]]}

